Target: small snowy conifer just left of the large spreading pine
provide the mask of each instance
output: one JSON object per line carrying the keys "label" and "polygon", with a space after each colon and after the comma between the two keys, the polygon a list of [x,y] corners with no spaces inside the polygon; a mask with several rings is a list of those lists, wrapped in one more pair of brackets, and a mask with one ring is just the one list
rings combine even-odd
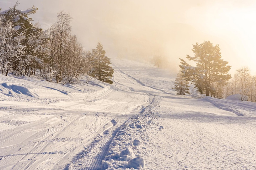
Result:
{"label": "small snowy conifer just left of the large spreading pine", "polygon": [[185,80],[183,77],[183,73],[178,73],[177,78],[175,79],[174,85],[175,87],[172,88],[174,91],[177,91],[177,95],[186,95],[189,94],[189,81]]}

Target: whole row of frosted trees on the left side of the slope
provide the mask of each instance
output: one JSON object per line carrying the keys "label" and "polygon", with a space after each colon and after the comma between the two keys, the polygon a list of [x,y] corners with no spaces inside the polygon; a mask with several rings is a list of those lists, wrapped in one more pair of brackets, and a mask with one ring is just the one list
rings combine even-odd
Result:
{"label": "whole row of frosted trees on the left side of the slope", "polygon": [[[43,30],[32,24],[30,14],[38,8],[26,11],[13,8],[0,13],[0,70],[2,75],[17,76],[39,74],[57,83],[74,83],[81,75],[90,75],[111,83],[113,69],[110,59],[100,43],[96,49],[84,51],[75,35],[71,34],[71,17],[61,11],[57,22]],[[1,8],[0,8],[1,11]]]}

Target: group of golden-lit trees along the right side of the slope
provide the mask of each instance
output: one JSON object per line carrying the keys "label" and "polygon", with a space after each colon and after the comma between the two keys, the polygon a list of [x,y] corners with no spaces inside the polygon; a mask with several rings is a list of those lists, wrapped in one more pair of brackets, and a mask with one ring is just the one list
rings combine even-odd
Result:
{"label": "group of golden-lit trees along the right side of the slope", "polygon": [[240,94],[241,100],[256,102],[256,75],[252,76],[247,67],[236,70],[231,78],[228,74],[231,66],[222,59],[219,45],[210,41],[202,44],[196,43],[192,49],[194,57],[187,55],[189,61],[196,62],[191,66],[181,59],[181,70],[175,79],[175,87],[179,95],[189,94],[188,83],[194,85],[198,92],[216,98],[226,98],[230,95]]}

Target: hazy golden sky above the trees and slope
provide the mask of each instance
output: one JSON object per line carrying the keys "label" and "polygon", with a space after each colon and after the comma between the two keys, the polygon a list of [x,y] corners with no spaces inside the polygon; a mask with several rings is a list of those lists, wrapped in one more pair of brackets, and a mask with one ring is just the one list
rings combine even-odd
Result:
{"label": "hazy golden sky above the trees and slope", "polygon": [[[7,10],[16,0],[0,0]],[[107,56],[170,58],[174,70],[179,58],[193,56],[192,44],[219,44],[231,73],[248,66],[256,74],[255,0],[20,0],[46,29],[66,11],[73,18],[73,33],[85,50],[101,42]]]}

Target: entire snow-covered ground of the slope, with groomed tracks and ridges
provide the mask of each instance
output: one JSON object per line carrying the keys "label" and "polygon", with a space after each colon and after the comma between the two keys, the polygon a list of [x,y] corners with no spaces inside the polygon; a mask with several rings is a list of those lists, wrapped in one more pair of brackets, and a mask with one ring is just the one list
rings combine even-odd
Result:
{"label": "entire snow-covered ground of the slope, with groomed tracks and ridges", "polygon": [[256,103],[178,96],[168,70],[111,61],[113,85],[0,75],[0,169],[256,169]]}

